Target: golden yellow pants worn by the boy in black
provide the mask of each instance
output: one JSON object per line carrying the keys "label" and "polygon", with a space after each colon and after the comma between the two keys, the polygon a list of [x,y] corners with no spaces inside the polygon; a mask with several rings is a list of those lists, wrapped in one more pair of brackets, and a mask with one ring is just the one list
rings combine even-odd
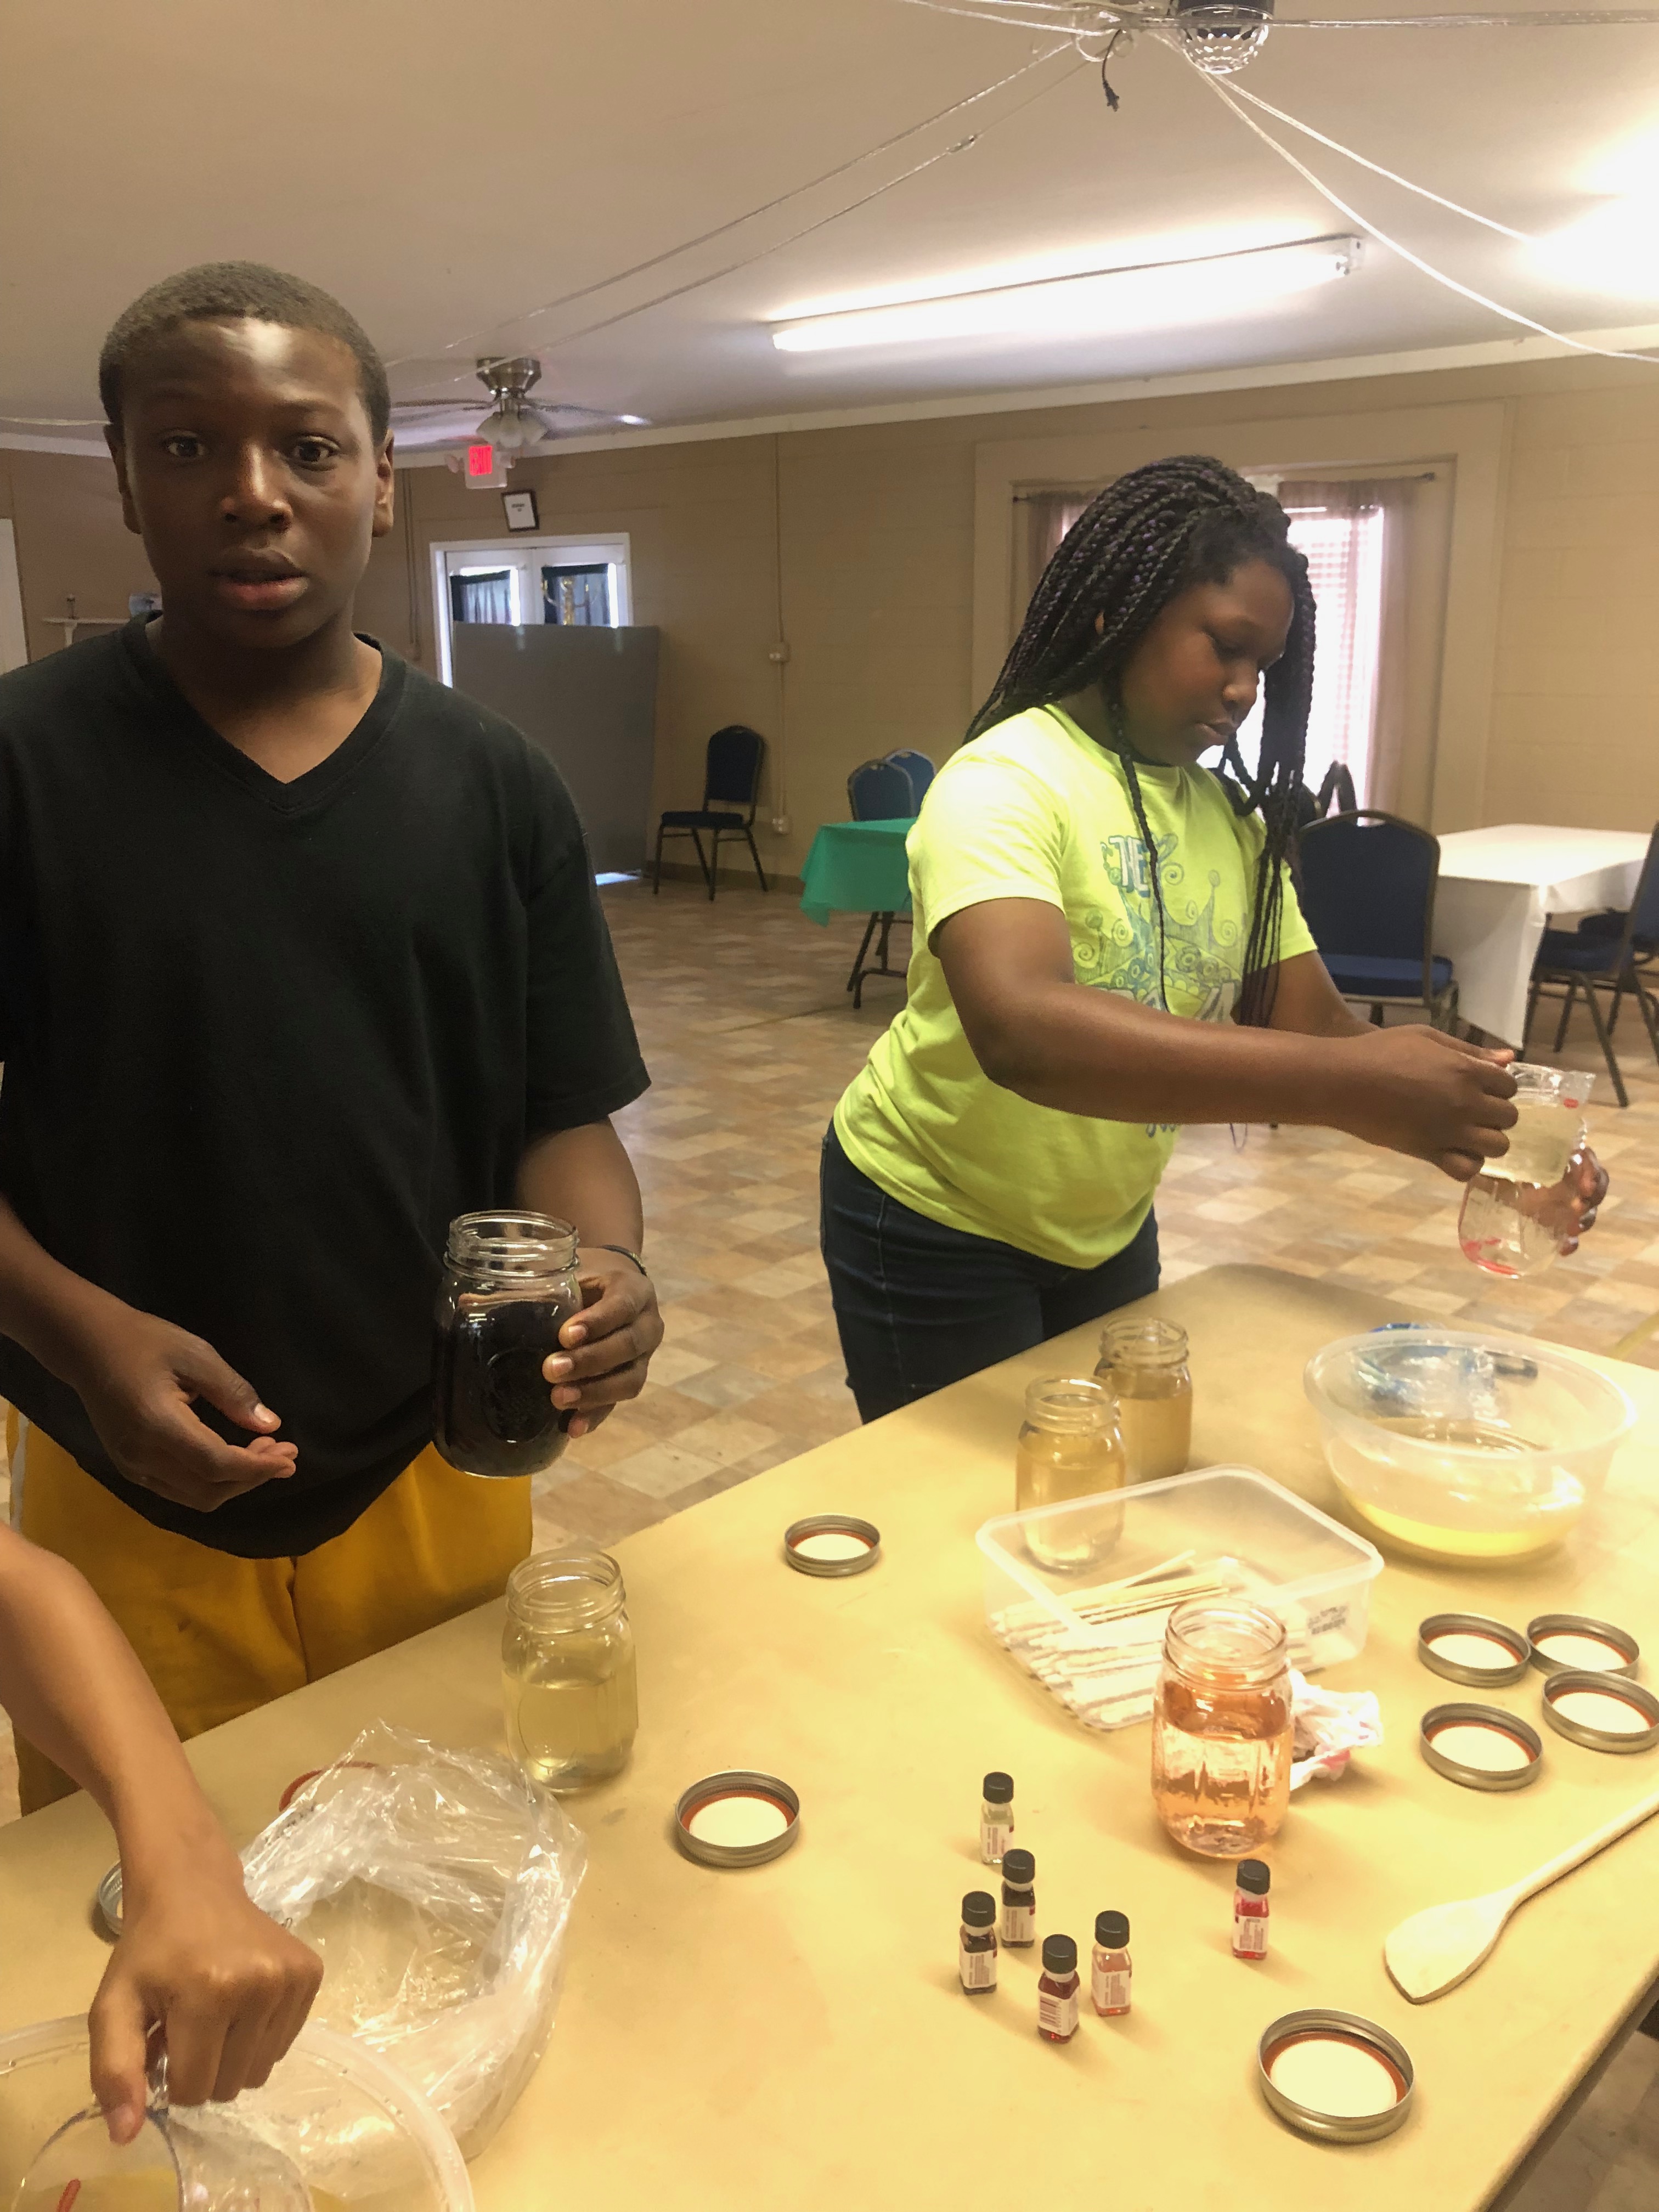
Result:
{"label": "golden yellow pants worn by the boy in black", "polygon": [[[480,1482],[431,1444],[345,1535],[299,1559],[237,1559],[155,1528],[33,1422],[7,1429],[13,1524],[86,1575],[181,1736],[500,1597],[531,1548],[529,1478]],[[18,1739],[24,1812],[73,1787]]]}

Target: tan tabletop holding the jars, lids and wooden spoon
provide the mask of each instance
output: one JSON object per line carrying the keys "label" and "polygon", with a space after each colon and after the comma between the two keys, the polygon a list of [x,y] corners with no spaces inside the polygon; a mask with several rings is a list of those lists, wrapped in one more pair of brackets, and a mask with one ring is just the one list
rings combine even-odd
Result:
{"label": "tan tabletop holding the jars, lids and wooden spoon", "polygon": [[[1192,1334],[1194,1464],[1245,1462],[1334,1506],[1301,1391],[1307,1354],[1394,1318],[1387,1301],[1267,1267],[1214,1267],[1148,1301]],[[1232,1871],[1164,1840],[1148,1732],[1084,1732],[984,1628],[973,1531],[1011,1502],[1033,1374],[1093,1365],[1062,1338],[745,1482],[622,1548],[644,1728],[628,1774],[571,1809],[591,1840],[571,1973],[540,2075],[473,2166],[480,2212],[615,2205],[759,2212],[774,2203],[933,2212],[973,2203],[1166,2212],[1464,2212],[1486,2205],[1615,2042],[1659,1971],[1659,1823],[1524,1907],[1460,1991],[1409,2006],[1383,1971],[1418,1907],[1515,1880],[1659,1785],[1659,1752],[1613,1759],[1546,1732],[1517,1796],[1436,1778],[1418,1717],[1460,1692],[1413,1657],[1433,1610],[1524,1626],[1577,1608],[1659,1650],[1659,1376],[1593,1526],[1555,1562],[1467,1573],[1394,1564],[1371,1639],[1323,1677],[1383,1697],[1389,1741],[1298,1792],[1274,1858],[1272,1958],[1230,1955]],[[783,1526],[852,1511],[883,1562],[814,1582]],[[1528,1674],[1495,1703],[1537,1717]],[[219,1728],[195,1763],[237,1838],[283,1783],[385,1717],[500,1743],[498,1610]],[[686,1783],[754,1765],[801,1792],[799,1845],[717,1874],[668,1836]],[[987,1767],[1015,1776],[1037,1856],[1037,1924],[1086,1942],[1130,1913],[1135,2011],[1077,2037],[1035,2033],[1033,1953],[1002,1986],[956,1984]],[[84,1803],[0,1832],[0,2024],[82,2006],[104,1949],[88,1900],[111,1838]],[[1259,2101],[1254,2046],[1279,2013],[1334,2004],[1400,2035],[1418,2068],[1402,2132],[1323,2148]]]}

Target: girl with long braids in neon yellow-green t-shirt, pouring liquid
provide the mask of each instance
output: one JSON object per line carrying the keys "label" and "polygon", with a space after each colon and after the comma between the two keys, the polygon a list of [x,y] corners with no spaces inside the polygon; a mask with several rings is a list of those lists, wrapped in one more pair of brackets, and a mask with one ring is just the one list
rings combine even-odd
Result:
{"label": "girl with long braids in neon yellow-green t-shirt, pouring liquid", "polygon": [[[1048,562],[909,834],[907,1002],[825,1135],[865,1420],[1155,1290],[1183,1121],[1323,1124],[1458,1179],[1506,1150],[1513,1055],[1360,1022],[1301,918],[1312,679],[1307,562],[1217,460],[1119,478]],[[1604,1188],[1586,1161],[1568,1237]]]}

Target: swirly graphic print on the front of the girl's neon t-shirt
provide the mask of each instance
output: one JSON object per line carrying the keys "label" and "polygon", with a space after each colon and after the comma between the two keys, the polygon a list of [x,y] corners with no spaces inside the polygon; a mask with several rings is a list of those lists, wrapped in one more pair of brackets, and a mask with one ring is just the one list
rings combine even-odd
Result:
{"label": "swirly graphic print on the front of the girl's neon t-shirt", "polygon": [[[1121,907],[1084,914],[1088,938],[1073,945],[1077,982],[1117,991],[1141,1006],[1161,1006],[1199,1022],[1223,1022],[1239,998],[1237,922],[1217,920],[1221,876],[1206,872],[1203,905],[1186,887],[1175,834],[1157,838],[1159,889],[1164,894],[1164,987],[1159,993],[1157,916],[1152,872],[1137,836],[1106,836],[1099,858],[1121,898]],[[1232,958],[1228,958],[1232,956]]]}

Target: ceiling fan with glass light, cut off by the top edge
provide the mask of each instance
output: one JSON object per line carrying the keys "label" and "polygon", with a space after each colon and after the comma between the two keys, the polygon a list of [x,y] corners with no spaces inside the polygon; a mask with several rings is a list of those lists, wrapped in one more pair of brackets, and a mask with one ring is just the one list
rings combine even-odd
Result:
{"label": "ceiling fan with glass light, cut off by the top edge", "polygon": [[[1208,77],[1232,77],[1270,31],[1559,31],[1577,24],[1655,24],[1659,9],[1546,9],[1455,15],[1276,15],[1274,0],[909,0],[940,15],[1011,22],[1060,38],[1128,42],[1137,31],[1177,46]],[[1099,60],[1099,55],[1091,55]]]}

